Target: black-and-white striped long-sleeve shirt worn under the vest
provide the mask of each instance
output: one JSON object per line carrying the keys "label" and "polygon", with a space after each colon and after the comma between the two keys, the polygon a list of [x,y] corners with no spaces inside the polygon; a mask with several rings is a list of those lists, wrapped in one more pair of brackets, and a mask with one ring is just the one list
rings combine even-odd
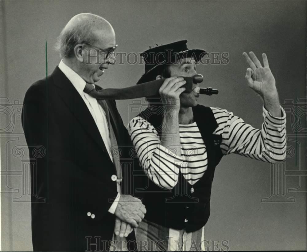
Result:
{"label": "black-and-white striped long-sleeve shirt worn under the vest", "polygon": [[[236,153],[265,162],[285,159],[286,113],[272,116],[264,107],[261,129],[246,124],[232,112],[211,108],[218,127],[213,134],[222,136],[220,148],[224,155]],[[179,124],[181,156],[160,144],[156,129],[142,117],[128,124],[131,140],[138,153],[140,165],[159,187],[171,189],[177,184],[179,171],[193,185],[208,167],[207,150],[196,122]]]}

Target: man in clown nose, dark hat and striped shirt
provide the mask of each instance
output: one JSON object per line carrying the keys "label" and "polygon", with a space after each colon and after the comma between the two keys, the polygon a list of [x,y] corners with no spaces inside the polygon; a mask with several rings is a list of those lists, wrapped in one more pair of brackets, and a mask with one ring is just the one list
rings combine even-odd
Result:
{"label": "man in clown nose, dark hat and striped shirt", "polygon": [[189,50],[186,42],[142,54],[145,74],[138,83],[166,78],[159,90],[160,103],[148,99],[149,107],[128,125],[148,177],[142,195],[147,213],[135,231],[142,250],[206,250],[204,226],[215,167],[222,156],[236,153],[266,162],[285,158],[286,115],[266,54],[262,66],[254,53],[243,53],[250,65],[248,85],[264,101],[264,123],[255,129],[225,109],[199,105],[197,92],[185,92],[182,77],[194,76],[196,63],[206,54]]}

